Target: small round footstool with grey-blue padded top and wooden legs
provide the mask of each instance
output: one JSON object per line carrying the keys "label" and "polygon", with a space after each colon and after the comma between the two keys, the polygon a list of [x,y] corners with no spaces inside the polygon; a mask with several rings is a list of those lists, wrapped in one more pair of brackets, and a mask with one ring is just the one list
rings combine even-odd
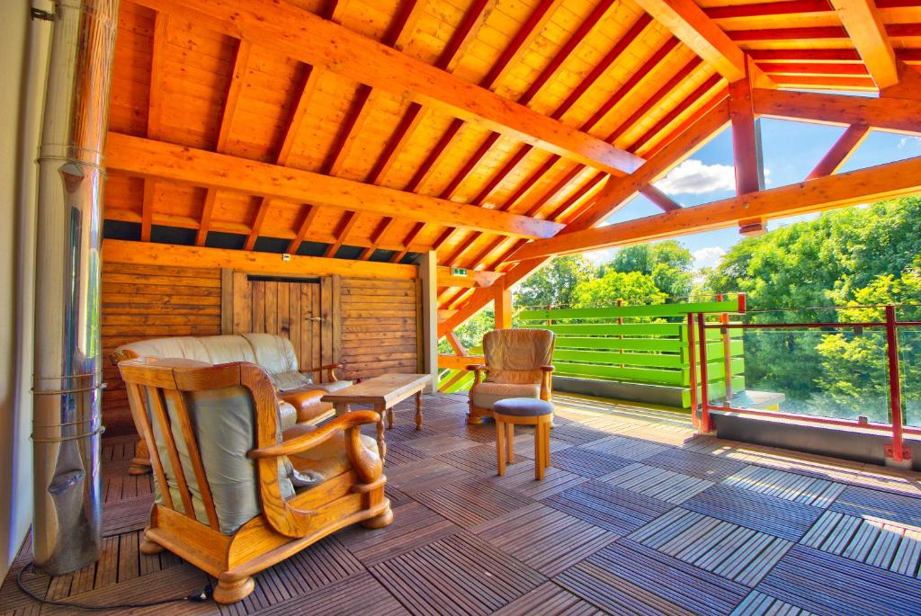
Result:
{"label": "small round footstool with grey-blue padded top and wooden legs", "polygon": [[534,477],[543,479],[543,470],[550,466],[550,423],[554,405],[538,398],[507,398],[493,405],[495,418],[495,455],[499,474],[506,472],[506,463],[515,460],[515,425],[534,426]]}

